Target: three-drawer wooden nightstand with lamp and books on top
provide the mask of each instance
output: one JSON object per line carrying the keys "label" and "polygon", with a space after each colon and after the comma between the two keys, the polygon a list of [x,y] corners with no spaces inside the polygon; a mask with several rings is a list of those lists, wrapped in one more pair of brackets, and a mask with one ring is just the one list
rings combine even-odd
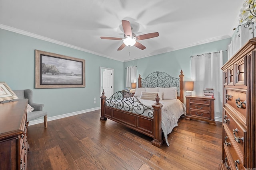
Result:
{"label": "three-drawer wooden nightstand with lamp and books on top", "polygon": [[186,120],[197,119],[207,121],[211,125],[216,125],[214,120],[214,100],[215,98],[204,96],[186,97]]}

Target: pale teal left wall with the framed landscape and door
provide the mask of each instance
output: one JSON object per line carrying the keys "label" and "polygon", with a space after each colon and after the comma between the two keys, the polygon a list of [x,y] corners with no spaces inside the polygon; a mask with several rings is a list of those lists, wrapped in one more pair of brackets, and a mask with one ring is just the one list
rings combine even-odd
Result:
{"label": "pale teal left wall with the framed landscape and door", "polygon": [[[85,88],[34,88],[34,50],[85,59]],[[0,29],[0,82],[12,90],[32,89],[48,117],[100,107],[100,67],[114,69],[114,91],[122,89],[124,64],[91,53]],[[96,104],[94,104],[94,97]]]}

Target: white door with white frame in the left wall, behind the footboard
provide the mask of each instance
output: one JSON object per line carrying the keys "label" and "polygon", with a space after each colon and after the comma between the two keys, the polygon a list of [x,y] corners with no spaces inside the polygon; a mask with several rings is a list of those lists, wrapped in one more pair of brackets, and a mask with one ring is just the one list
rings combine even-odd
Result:
{"label": "white door with white frame in the left wall, behind the footboard", "polygon": [[100,96],[103,89],[107,98],[114,94],[114,69],[112,68],[100,67]]}

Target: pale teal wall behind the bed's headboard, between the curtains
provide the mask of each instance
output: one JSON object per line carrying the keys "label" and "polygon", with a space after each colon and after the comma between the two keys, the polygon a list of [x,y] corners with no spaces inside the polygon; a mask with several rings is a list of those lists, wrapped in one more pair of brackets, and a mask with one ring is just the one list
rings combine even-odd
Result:
{"label": "pale teal wall behind the bed's headboard, between the curtains", "polygon": [[[190,56],[209,53],[212,51],[227,50],[230,44],[230,38],[194,47],[188,47],[168,53],[154,55],[134,61],[124,63],[124,86],[126,85],[126,67],[137,66],[137,73],[142,78],[146,78],[148,74],[155,71],[162,71],[170,74],[171,76],[178,77],[182,69],[184,74],[184,81],[190,80]],[[228,52],[223,52],[223,63],[228,60]],[[220,84],[220,86],[222,86]],[[124,87],[125,88],[125,87]]]}

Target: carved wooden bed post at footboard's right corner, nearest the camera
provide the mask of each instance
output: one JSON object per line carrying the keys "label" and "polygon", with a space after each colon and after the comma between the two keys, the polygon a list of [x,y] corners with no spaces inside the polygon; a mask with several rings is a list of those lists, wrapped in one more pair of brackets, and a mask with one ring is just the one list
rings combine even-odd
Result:
{"label": "carved wooden bed post at footboard's right corner, nearest the camera", "polygon": [[152,105],[154,108],[154,129],[153,129],[153,141],[151,142],[152,145],[160,148],[162,147],[164,141],[162,140],[162,107],[163,105],[159,103],[160,98],[158,94],[156,95],[156,103]]}

